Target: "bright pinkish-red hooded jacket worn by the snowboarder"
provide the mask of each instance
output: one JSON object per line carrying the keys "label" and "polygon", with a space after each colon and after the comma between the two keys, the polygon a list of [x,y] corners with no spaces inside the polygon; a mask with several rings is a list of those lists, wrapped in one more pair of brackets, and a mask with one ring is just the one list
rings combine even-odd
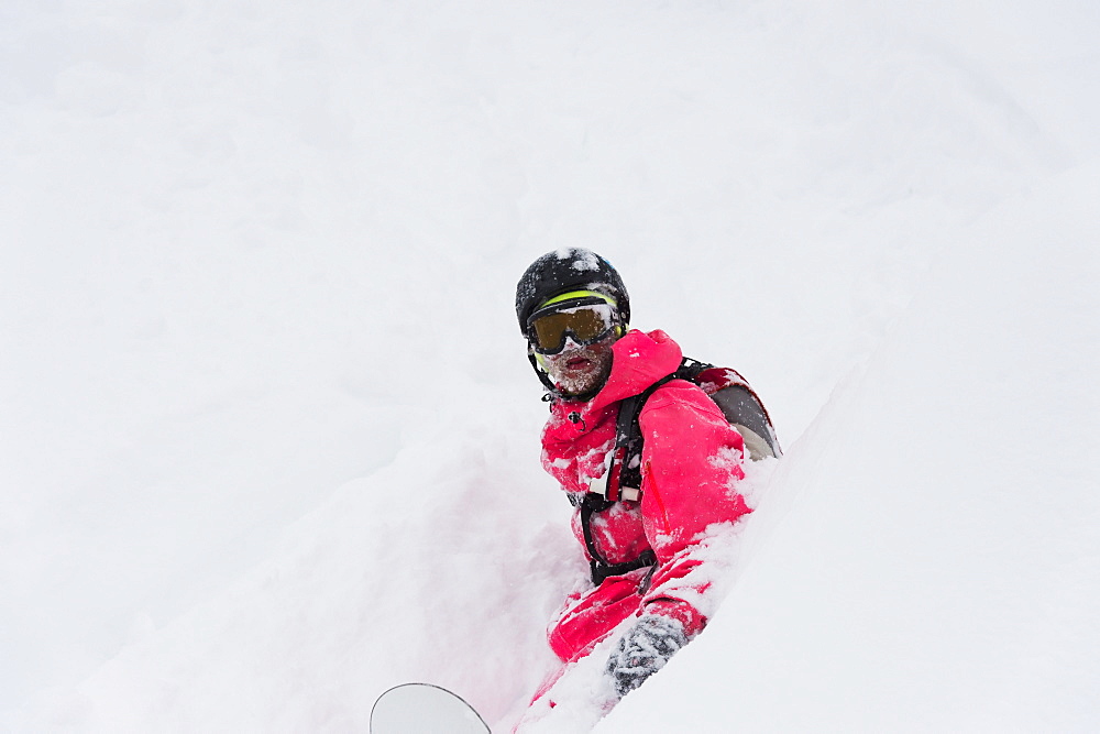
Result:
{"label": "bright pinkish-red hooded jacket worn by the snowboarder", "polygon": [[[588,482],[603,475],[615,443],[619,401],[675,372],[683,357],[663,331],[630,331],[613,350],[610,376],[600,393],[586,403],[554,402],[543,429],[542,465],[566,492],[583,495]],[[751,512],[737,491],[745,476],[745,443],[714,402],[683,380],[660,386],[646,402],[639,423],[641,501],[620,501],[594,514],[593,541],[609,563],[631,561],[652,548],[658,568],[648,589],[639,589],[637,613],[674,616],[692,636],[706,622],[697,602],[710,587],[705,572],[689,577],[706,563],[697,546],[701,534],[714,523],[732,523]],[[580,510],[573,515],[573,533],[584,547]],[[630,576],[640,582],[645,573]],[[559,621],[559,627],[563,624]],[[595,642],[554,644],[551,631],[551,644],[563,659]]]}

